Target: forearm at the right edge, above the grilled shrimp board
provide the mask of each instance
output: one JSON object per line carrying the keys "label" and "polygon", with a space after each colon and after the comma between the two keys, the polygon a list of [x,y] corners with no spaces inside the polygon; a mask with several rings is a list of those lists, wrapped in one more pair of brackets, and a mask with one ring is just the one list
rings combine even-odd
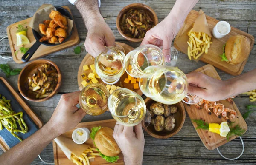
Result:
{"label": "forearm at the right edge, above the grilled shrimp board", "polygon": [[256,69],[227,80],[230,84],[230,96],[256,89]]}

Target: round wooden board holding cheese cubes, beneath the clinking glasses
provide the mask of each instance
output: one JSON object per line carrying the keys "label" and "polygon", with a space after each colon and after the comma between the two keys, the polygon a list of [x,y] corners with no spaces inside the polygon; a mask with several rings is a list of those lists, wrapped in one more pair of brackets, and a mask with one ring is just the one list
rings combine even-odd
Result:
{"label": "round wooden board holding cheese cubes, beneath the clinking glasses", "polygon": [[[119,42],[116,42],[117,44],[121,45],[124,49],[125,49],[125,55],[134,50],[133,47],[125,44],[125,43],[119,43]],[[78,83],[78,87],[79,87],[79,90],[82,90],[83,89],[83,85],[81,84],[82,80],[81,80],[81,74],[82,73],[85,73],[86,75],[88,75],[90,72],[92,72],[91,69],[87,70],[87,71],[84,71],[83,69],[83,65],[91,65],[91,64],[94,64],[94,58],[88,53],[85,55],[84,59],[82,60],[81,64],[80,64],[80,67],[79,67],[79,70],[78,70],[78,74],[77,74],[77,83]],[[89,67],[90,68],[90,67]],[[119,82],[117,82],[115,85],[116,86],[120,86],[120,82],[122,83],[123,85],[123,88],[127,88],[127,89],[131,89],[132,91],[135,91],[137,92],[137,94],[139,94],[140,96],[142,95],[142,92],[140,91],[140,89],[133,89],[133,84],[131,84],[131,81],[129,84],[127,83],[124,83],[124,80],[125,78],[127,78],[128,74],[125,72],[122,77],[120,78]],[[101,79],[97,79],[99,81],[99,83],[102,83],[104,85],[107,85],[106,83],[103,83],[103,81]],[[138,82],[137,82],[138,83]],[[121,86],[120,86],[121,87]]]}

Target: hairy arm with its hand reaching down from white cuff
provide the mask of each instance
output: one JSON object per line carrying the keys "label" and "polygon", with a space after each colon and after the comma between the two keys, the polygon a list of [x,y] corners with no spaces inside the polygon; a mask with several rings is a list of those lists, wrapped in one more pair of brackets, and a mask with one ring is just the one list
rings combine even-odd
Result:
{"label": "hairy arm with its hand reaching down from white cuff", "polygon": [[114,34],[99,12],[98,0],[77,0],[75,5],[88,30],[84,42],[86,51],[96,57],[105,46],[115,46]]}

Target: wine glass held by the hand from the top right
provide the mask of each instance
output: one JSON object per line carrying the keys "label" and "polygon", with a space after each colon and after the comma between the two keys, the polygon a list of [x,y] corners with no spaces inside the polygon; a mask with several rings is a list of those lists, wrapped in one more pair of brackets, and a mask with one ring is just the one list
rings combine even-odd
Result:
{"label": "wine glass held by the hand from the top right", "polygon": [[131,77],[141,77],[143,70],[148,66],[174,66],[177,63],[178,51],[171,46],[171,60],[166,62],[166,57],[163,55],[162,50],[154,45],[143,45],[130,51],[125,56],[125,71]]}

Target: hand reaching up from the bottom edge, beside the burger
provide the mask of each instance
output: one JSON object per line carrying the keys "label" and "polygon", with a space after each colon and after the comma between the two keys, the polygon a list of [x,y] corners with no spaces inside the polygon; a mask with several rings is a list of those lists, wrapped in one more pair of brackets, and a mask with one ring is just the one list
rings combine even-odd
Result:
{"label": "hand reaching up from the bottom edge, beside the burger", "polygon": [[127,127],[116,123],[113,137],[124,155],[125,164],[142,165],[145,139],[141,124]]}

